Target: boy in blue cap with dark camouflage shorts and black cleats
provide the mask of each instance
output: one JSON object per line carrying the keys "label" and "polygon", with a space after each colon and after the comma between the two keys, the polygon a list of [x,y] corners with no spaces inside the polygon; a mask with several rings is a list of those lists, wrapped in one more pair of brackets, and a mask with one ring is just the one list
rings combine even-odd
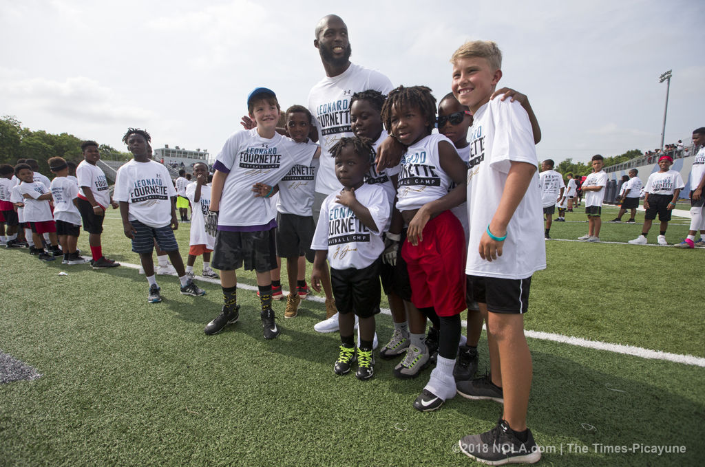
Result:
{"label": "boy in blue cap with dark camouflage shorts and black cleats", "polygon": [[213,165],[209,209],[218,213],[213,267],[221,270],[223,311],[206,325],[204,332],[216,334],[237,322],[240,306],[235,270],[245,266],[245,270],[254,269],[257,273],[264,338],[274,339],[279,328],[271,308],[269,271],[276,268],[276,210],[269,197],[274,193],[274,185],[293,166],[308,166],[320,150],[276,132],[279,103],[271,89],[258,87],[250,92],[247,111],[257,127],[233,133]]}

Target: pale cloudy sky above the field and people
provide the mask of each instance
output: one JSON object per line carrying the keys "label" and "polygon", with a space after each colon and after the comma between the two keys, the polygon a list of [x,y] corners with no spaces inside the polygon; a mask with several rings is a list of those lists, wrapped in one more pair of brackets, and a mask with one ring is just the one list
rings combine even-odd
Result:
{"label": "pale cloudy sky above the field and people", "polygon": [[[351,60],[394,85],[450,91],[453,51],[491,39],[504,55],[500,86],[529,96],[539,158],[587,161],[705,126],[705,2],[0,0],[0,115],[125,150],[127,127],[152,146],[216,154],[246,113],[247,94],[274,89],[306,104],[324,76],[314,27],[348,25]],[[697,44],[700,44],[699,46]]]}

